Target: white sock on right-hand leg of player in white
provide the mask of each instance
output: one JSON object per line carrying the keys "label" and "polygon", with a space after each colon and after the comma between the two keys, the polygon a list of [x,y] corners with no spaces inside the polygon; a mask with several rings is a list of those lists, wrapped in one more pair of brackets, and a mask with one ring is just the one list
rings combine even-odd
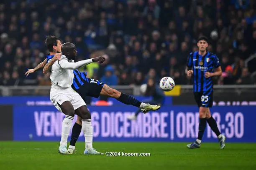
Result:
{"label": "white sock on right-hand leg of player in white", "polygon": [[93,129],[91,119],[82,120],[82,131],[85,138],[85,149],[92,148]]}

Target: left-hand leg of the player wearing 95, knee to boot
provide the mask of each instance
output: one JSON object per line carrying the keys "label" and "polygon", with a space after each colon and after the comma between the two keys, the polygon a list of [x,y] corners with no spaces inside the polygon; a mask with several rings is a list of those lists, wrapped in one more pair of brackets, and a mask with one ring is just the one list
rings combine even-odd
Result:
{"label": "left-hand leg of the player wearing 95, knee to boot", "polygon": [[195,148],[200,148],[201,142],[202,142],[202,137],[205,132],[205,127],[206,127],[206,114],[207,114],[207,107],[200,107],[199,108],[199,128],[198,128],[198,137],[197,140],[191,144],[187,145],[187,148],[189,149],[195,149]]}

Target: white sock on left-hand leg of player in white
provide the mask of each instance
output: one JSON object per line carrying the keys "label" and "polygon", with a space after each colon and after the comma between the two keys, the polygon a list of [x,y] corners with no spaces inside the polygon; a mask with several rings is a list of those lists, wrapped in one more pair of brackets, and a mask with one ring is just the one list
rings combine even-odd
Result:
{"label": "white sock on left-hand leg of player in white", "polygon": [[61,142],[60,146],[67,146],[67,138],[69,137],[69,132],[72,126],[72,120],[74,117],[66,115],[62,121],[62,132],[61,132]]}

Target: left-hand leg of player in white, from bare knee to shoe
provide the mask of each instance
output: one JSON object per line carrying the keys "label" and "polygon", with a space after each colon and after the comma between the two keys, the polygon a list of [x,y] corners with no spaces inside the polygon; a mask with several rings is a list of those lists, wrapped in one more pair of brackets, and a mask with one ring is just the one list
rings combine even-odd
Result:
{"label": "left-hand leg of player in white, from bare knee to shoe", "polygon": [[71,102],[65,101],[61,105],[62,112],[66,115],[62,121],[62,132],[61,132],[61,142],[59,145],[59,153],[69,154],[67,150],[67,138],[72,126],[72,120],[74,118],[74,107]]}

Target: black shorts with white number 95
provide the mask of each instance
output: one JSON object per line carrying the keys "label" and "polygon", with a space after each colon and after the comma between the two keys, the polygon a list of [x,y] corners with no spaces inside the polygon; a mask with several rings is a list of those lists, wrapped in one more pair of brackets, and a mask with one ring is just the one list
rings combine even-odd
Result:
{"label": "black shorts with white number 95", "polygon": [[194,97],[198,107],[212,107],[213,90],[194,92]]}

